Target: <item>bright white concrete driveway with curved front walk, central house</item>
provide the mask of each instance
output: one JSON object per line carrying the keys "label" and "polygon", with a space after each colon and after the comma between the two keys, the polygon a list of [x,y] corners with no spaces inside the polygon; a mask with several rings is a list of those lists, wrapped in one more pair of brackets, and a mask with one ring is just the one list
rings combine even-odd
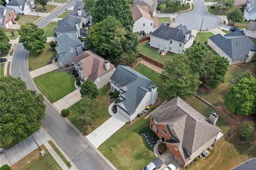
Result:
{"label": "bright white concrete driveway with curved front walk, central house", "polygon": [[105,123],[100,125],[100,127],[86,136],[86,139],[89,140],[96,148],[98,148],[111,135],[118,131],[119,128],[123,127],[125,123],[129,121],[120,113],[114,114],[111,110],[113,105],[114,103],[111,103],[108,108],[111,117]]}

